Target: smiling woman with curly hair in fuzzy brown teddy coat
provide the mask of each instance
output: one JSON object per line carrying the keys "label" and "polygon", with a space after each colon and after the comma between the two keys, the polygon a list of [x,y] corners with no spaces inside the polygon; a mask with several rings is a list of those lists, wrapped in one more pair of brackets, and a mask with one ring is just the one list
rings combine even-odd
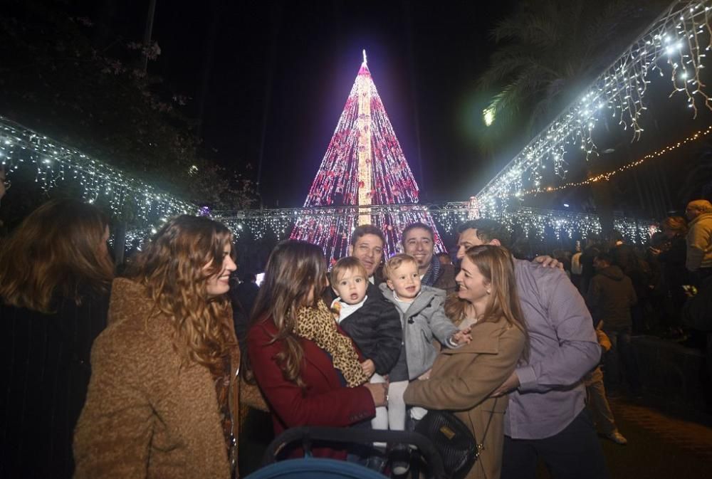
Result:
{"label": "smiling woman with curly hair in fuzzy brown teddy coat", "polygon": [[236,472],[231,239],[221,223],[179,216],[114,281],[75,431],[75,478]]}

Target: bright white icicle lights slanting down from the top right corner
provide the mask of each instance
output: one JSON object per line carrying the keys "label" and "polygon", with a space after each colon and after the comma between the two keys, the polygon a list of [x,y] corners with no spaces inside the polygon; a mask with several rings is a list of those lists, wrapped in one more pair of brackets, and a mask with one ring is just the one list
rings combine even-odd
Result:
{"label": "bright white icicle lights slanting down from the top right corner", "polygon": [[[498,199],[523,194],[525,183],[541,187],[543,170],[553,169],[559,177],[567,173],[567,153],[597,156],[592,132],[603,115],[632,130],[633,140],[643,132],[639,120],[646,110],[644,96],[651,78],[671,80],[670,96],[683,95],[696,117],[701,106],[712,110],[712,102],[700,70],[712,46],[712,0],[675,1],[651,28],[639,36],[613,65],[600,75],[579,100],[572,103],[535,137],[479,192],[484,211],[496,211]],[[565,156],[567,159],[565,159]]]}

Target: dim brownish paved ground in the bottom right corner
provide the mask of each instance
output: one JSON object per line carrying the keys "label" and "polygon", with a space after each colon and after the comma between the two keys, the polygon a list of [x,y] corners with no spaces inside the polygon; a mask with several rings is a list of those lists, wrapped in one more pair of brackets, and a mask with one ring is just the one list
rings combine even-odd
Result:
{"label": "dim brownish paved ground in the bottom right corner", "polygon": [[[712,478],[712,427],[706,416],[681,419],[646,403],[612,399],[619,446],[601,439],[612,479]],[[540,468],[540,478],[550,477]]]}

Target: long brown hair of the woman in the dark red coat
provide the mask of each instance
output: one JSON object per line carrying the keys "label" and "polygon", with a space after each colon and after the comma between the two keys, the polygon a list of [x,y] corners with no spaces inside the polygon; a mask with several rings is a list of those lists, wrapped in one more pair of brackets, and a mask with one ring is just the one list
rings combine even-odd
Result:
{"label": "long brown hair of the woman in the dark red coat", "polygon": [[[264,281],[253,308],[252,321],[271,317],[277,327],[274,341],[284,349],[277,354],[283,377],[305,386],[300,372],[304,351],[294,330],[300,307],[316,306],[326,285],[326,260],[318,246],[305,241],[282,241],[272,251]],[[313,300],[309,304],[309,293]]]}

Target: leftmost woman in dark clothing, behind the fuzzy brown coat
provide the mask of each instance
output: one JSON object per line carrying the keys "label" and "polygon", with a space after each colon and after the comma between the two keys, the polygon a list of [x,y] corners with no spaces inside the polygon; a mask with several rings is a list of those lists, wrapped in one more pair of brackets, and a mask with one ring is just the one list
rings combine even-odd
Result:
{"label": "leftmost woman in dark clothing, behind the fuzzy brown coat", "polygon": [[76,200],[33,211],[0,250],[0,477],[71,478],[72,435],[106,326],[108,217]]}

